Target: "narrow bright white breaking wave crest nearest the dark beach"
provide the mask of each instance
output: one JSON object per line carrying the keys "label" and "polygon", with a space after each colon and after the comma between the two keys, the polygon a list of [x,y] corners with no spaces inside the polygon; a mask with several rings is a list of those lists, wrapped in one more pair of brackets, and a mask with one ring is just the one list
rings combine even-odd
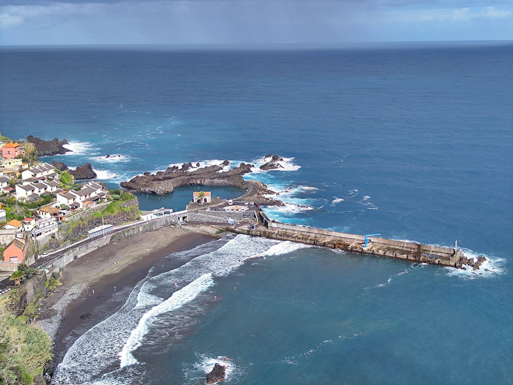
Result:
{"label": "narrow bright white breaking wave crest nearest the dark beach", "polygon": [[146,312],[139,320],[137,328],[132,330],[132,333],[130,334],[130,337],[128,337],[123,350],[119,353],[121,368],[137,362],[137,360],[132,355],[132,352],[141,346],[142,339],[149,331],[149,322],[151,321],[151,318],[182,307],[187,302],[190,302],[196,298],[198,294],[207,290],[213,284],[214,281],[212,279],[212,273],[204,274],[199,278],[196,278],[187,286],[181,288],[179,291],[174,292],[171,297],[169,297],[164,302],[153,306],[149,312]]}

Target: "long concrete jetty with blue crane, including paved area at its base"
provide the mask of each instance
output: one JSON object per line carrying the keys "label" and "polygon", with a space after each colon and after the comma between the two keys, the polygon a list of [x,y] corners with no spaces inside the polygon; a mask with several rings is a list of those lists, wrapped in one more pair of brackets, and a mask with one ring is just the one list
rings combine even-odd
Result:
{"label": "long concrete jetty with blue crane, including paved area at its base", "polygon": [[440,247],[279,223],[270,220],[259,205],[246,203],[233,201],[230,205],[227,201],[216,199],[206,204],[191,202],[182,216],[190,224],[209,225],[231,233],[341,249],[350,253],[407,262],[479,270],[486,261],[485,257],[478,257],[477,260],[466,258],[456,245],[454,248]]}

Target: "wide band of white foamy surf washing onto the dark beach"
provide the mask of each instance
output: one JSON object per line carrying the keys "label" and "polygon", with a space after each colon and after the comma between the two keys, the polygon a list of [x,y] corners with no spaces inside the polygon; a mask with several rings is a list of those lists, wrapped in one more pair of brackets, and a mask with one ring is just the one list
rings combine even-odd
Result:
{"label": "wide band of white foamy surf washing onto the dark beach", "polygon": [[[216,277],[228,275],[244,261],[279,243],[265,238],[238,235],[209,242],[189,251],[174,253],[173,258],[191,259],[179,268],[153,277],[148,276],[138,283],[122,309],[93,326],[75,341],[58,366],[54,383],[107,383],[110,378],[119,380],[120,377],[124,381],[126,379],[124,383],[134,383],[136,377],[125,377],[127,371],[131,373],[132,366],[136,368],[136,365],[127,364],[134,362],[130,357],[134,353],[133,347],[144,343],[144,352],[147,352],[153,345],[162,344],[161,333],[157,333],[151,325],[156,324],[160,328],[172,327],[174,334],[187,329],[187,314],[191,314],[191,310],[192,313],[201,312],[198,307],[200,305],[194,304],[192,297],[204,293],[212,283],[210,280],[215,281]],[[177,291],[174,289],[174,282],[180,288]],[[165,301],[161,299],[164,293],[167,293],[168,298]],[[179,306],[180,303],[183,307]],[[188,309],[189,313],[182,312],[181,309]],[[146,315],[148,312],[150,313]],[[176,338],[180,338],[180,335]],[[119,355],[120,352],[122,356]],[[115,366],[116,357],[121,358],[118,363],[126,364],[123,369],[111,369]],[[123,376],[120,376],[119,370],[123,370]],[[106,374],[100,379],[98,373]]]}

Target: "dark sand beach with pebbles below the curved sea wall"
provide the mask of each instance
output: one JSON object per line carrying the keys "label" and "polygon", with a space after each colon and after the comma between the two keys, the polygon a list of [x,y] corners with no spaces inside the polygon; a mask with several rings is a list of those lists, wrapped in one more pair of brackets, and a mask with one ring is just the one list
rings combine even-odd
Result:
{"label": "dark sand beach with pebbles below the curved sea wall", "polygon": [[[62,361],[83,333],[118,311],[157,261],[215,239],[218,238],[165,227],[110,243],[71,262],[62,272],[62,285],[42,304],[43,312],[53,309],[56,314],[36,321],[54,343],[53,364]],[[186,263],[173,262],[171,269]],[[81,318],[83,314],[87,316]]]}

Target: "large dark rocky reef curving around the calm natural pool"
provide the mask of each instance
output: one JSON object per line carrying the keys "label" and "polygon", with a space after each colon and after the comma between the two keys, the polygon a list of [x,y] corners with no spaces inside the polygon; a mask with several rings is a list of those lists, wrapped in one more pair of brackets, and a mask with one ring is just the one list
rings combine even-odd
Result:
{"label": "large dark rocky reef curving around the calm natural pool", "polygon": [[[186,185],[203,186],[233,186],[246,190],[239,198],[241,200],[255,202],[259,205],[283,205],[282,201],[266,198],[266,194],[275,194],[267,189],[267,186],[260,181],[244,180],[242,177],[251,172],[252,164],[241,163],[239,167],[224,171],[224,166],[229,165],[224,161],[218,166],[199,167],[200,164],[184,163],[181,167],[168,167],[165,171],[158,171],[156,174],[145,172],[128,182],[121,182],[121,187],[137,192],[154,192],[163,195],[173,192],[176,187]],[[196,168],[199,167],[199,168]]]}

